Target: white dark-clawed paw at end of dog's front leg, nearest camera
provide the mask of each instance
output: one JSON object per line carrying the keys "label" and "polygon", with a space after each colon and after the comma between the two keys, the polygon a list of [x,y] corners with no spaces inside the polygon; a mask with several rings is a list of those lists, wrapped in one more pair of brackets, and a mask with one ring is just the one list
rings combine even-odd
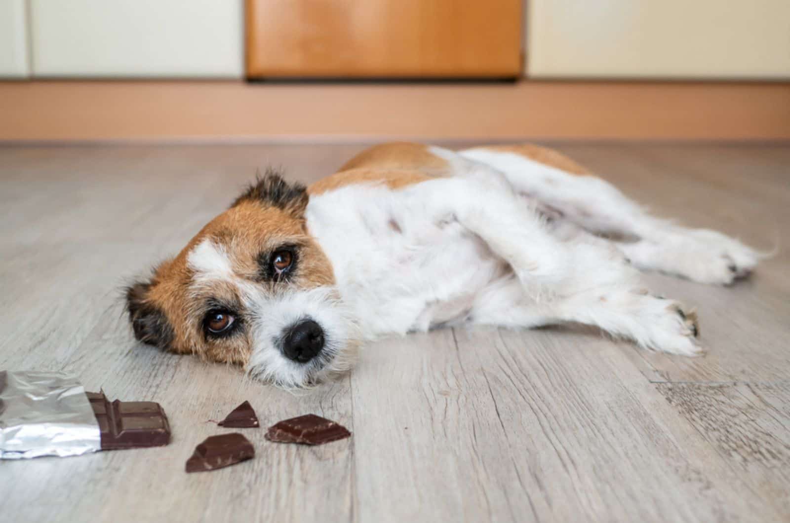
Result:
{"label": "white dark-clawed paw at end of dog's front leg, nearest camera", "polygon": [[644,329],[637,329],[636,341],[645,348],[680,356],[702,356],[698,344],[699,322],[694,309],[679,302],[645,296],[640,311]]}

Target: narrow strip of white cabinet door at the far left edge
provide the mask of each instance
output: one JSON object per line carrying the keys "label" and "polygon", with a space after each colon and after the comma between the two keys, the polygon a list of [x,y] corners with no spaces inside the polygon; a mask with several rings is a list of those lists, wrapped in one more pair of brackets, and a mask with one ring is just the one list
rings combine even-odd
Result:
{"label": "narrow strip of white cabinet door at the far left edge", "polygon": [[0,0],[0,77],[24,78],[28,73],[24,0]]}

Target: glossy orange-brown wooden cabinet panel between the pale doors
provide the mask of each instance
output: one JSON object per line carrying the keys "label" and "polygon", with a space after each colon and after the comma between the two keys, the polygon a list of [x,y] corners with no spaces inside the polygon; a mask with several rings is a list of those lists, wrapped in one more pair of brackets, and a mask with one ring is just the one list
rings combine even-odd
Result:
{"label": "glossy orange-brown wooden cabinet panel between the pale doors", "polygon": [[516,77],[521,0],[247,0],[248,77]]}

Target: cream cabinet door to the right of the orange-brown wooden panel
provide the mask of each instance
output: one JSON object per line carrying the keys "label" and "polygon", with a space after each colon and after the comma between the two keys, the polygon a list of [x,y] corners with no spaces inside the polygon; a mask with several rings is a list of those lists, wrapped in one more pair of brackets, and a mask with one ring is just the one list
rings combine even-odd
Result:
{"label": "cream cabinet door to the right of the orange-brown wooden panel", "polygon": [[790,77],[790,0],[528,4],[531,77]]}

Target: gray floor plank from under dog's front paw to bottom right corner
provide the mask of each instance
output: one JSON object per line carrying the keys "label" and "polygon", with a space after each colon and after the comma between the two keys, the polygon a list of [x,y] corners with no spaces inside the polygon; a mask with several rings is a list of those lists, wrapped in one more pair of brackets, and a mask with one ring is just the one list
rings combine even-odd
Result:
{"label": "gray floor plank from under dog's front paw to bottom right corner", "polygon": [[610,341],[553,329],[457,333],[483,374],[541,519],[775,519]]}

